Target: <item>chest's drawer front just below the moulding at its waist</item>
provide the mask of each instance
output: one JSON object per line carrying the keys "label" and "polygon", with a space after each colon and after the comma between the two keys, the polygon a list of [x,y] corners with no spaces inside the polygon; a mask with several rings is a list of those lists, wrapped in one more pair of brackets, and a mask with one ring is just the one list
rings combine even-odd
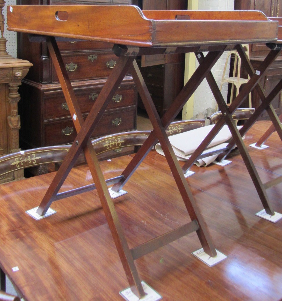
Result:
{"label": "chest's drawer front just below the moulding at its waist", "polygon": [[[101,88],[97,87],[74,89],[82,114],[89,113],[100,91]],[[43,103],[43,118],[45,121],[70,116],[70,111],[62,91],[44,92]],[[114,94],[107,109],[129,107],[134,106],[135,104],[136,89],[119,88]]]}

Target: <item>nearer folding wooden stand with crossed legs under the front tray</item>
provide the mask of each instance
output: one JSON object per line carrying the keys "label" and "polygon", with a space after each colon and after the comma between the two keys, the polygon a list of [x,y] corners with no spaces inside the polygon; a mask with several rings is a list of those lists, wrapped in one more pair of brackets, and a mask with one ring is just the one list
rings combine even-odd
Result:
{"label": "nearer folding wooden stand with crossed legs under the front tray", "polygon": [[[126,272],[126,276],[133,293],[135,293],[139,297],[144,296],[145,294],[141,285],[141,280],[139,278],[137,269],[134,264],[134,260],[186,234],[196,231],[204,251],[212,257],[216,256],[216,250],[209,236],[209,232],[206,229],[206,225],[203,221],[203,218],[200,215],[200,212],[194,201],[190,188],[187,185],[179,163],[172,150],[165,129],[169,125],[169,123],[175,118],[175,116],[181,110],[186,101],[191,97],[191,95],[202,82],[204,77],[207,76],[207,74],[210,72],[212,66],[221,56],[226,46],[222,46],[221,50],[211,51],[207,54],[207,56],[203,59],[203,63],[200,64],[200,66],[195,71],[194,75],[184,86],[173,105],[163,116],[162,120],[157,114],[156,108],[153,105],[153,101],[150,97],[150,94],[135,62],[135,57],[137,55],[142,55],[142,51],[137,50],[132,52],[126,52],[126,49],[124,49],[124,47],[121,48],[121,51],[119,53],[120,57],[116,63],[113,72],[110,74],[107,82],[104,85],[104,88],[102,89],[90,113],[88,114],[88,117],[84,121],[79,109],[79,105],[76,101],[73,89],[71,87],[70,80],[64,68],[64,63],[60,55],[59,49],[57,47],[56,40],[53,37],[48,37],[46,38],[46,43],[78,134],[64,162],[60,166],[60,169],[56,173],[50,187],[48,188],[44,198],[42,199],[37,213],[40,215],[44,215],[54,200],[62,198],[62,196],[58,198],[58,191],[62,186],[64,180],[66,179],[68,173],[70,172],[71,168],[73,167],[74,163],[76,162],[76,159],[78,158],[80,152],[84,151],[85,158],[87,160],[93,181],[95,182],[95,188],[97,189],[98,195],[100,197],[102,208],[105,212],[110,231],[112,233],[117,251],[119,253],[119,257],[121,259],[123,268]],[[148,52],[146,48],[143,49],[145,49],[144,53]],[[153,51],[159,53],[161,50],[154,49]],[[186,52],[185,50],[182,51]],[[156,143],[157,140],[159,140],[164,149],[169,167],[172,171],[172,174],[175,178],[175,182],[178,186],[182,199],[191,218],[190,223],[178,227],[166,234],[161,235],[160,237],[156,237],[132,249],[129,249],[129,246],[127,244],[125,235],[123,233],[121,224],[117,217],[112,199],[107,188],[107,183],[100,169],[97,156],[95,154],[90,140],[91,134],[97,126],[108,103],[112,99],[116,89],[118,88],[122,79],[129,70],[132,73],[133,79],[135,80],[135,83],[138,87],[138,91],[142,97],[145,108],[153,124],[153,132],[142,145],[141,149],[133,158],[129,166],[126,167],[122,176],[119,177],[119,180],[116,181],[116,184],[113,188],[116,191],[121,189],[121,187],[126,183],[128,178],[130,177],[130,175],[132,175],[132,173],[135,171],[138,165],[142,162],[144,157],[146,157],[146,154],[150,151],[153,144]],[[67,196],[68,193],[66,193],[65,195]]]}

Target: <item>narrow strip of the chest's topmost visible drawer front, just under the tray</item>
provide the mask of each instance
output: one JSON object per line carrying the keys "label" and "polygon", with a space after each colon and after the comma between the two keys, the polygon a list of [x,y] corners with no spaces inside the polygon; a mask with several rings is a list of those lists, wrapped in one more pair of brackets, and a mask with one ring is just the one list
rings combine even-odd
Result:
{"label": "narrow strip of the chest's topmost visible drawer front, just under the tray", "polygon": [[90,49],[109,49],[113,48],[113,44],[104,42],[94,42],[94,41],[71,41],[71,42],[58,42],[58,47],[60,51],[77,51],[77,50],[87,50]]}

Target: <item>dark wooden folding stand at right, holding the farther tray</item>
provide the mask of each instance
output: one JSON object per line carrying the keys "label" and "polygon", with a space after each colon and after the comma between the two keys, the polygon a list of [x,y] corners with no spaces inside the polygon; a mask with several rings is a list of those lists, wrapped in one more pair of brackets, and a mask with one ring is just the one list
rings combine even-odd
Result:
{"label": "dark wooden folding stand at right, holding the farther tray", "polygon": [[[275,184],[278,183],[281,178],[275,179],[271,182],[263,184],[258,173],[256,170],[256,167],[253,164],[253,161],[251,157],[249,156],[249,153],[246,149],[246,146],[243,143],[242,137],[246,134],[246,132],[251,128],[251,126],[256,122],[256,120],[259,118],[259,116],[262,114],[264,110],[267,111],[272,123],[273,127],[276,129],[281,141],[282,141],[282,126],[281,122],[275,113],[271,101],[273,98],[281,91],[282,89],[282,80],[273,88],[273,90],[269,93],[268,96],[265,95],[265,91],[259,82],[261,77],[264,75],[265,71],[269,67],[269,65],[276,59],[276,57],[280,54],[280,51],[282,49],[282,44],[274,44],[274,43],[267,43],[268,47],[271,49],[268,56],[265,57],[265,60],[261,63],[258,70],[254,70],[252,65],[250,64],[250,61],[248,57],[246,56],[245,51],[243,50],[241,45],[237,45],[236,49],[238,51],[238,54],[241,57],[243,66],[246,68],[250,79],[249,82],[246,83],[242,90],[240,91],[239,95],[234,99],[232,104],[228,107],[225,104],[225,101],[222,97],[221,92],[218,89],[218,86],[212,76],[212,73],[209,72],[209,74],[206,76],[207,82],[212,90],[213,95],[215,96],[215,100],[217,101],[218,107],[222,112],[221,119],[215,124],[214,128],[211,130],[209,135],[206,136],[206,138],[203,140],[203,142],[200,144],[200,146],[197,148],[197,150],[194,152],[194,154],[191,155],[189,160],[184,164],[182,167],[182,171],[185,173],[189,168],[193,165],[193,163],[198,159],[203,157],[202,153],[206,149],[207,145],[212,141],[212,139],[215,137],[215,135],[220,131],[224,123],[226,123],[230,129],[230,132],[232,134],[232,138],[230,139],[228,145],[223,149],[222,154],[219,155],[218,160],[223,160],[233,149],[235,145],[237,145],[238,150],[240,151],[240,154],[243,158],[243,161],[246,165],[246,168],[249,172],[249,175],[252,178],[252,181],[255,185],[255,188],[259,194],[260,200],[262,202],[262,205],[265,209],[265,212],[270,215],[274,216],[275,212],[272,209],[272,206],[269,202],[266,188],[269,188]],[[203,61],[202,54],[197,56],[198,61],[201,63]],[[235,110],[242,104],[242,102],[246,99],[246,97],[249,95],[249,93],[253,90],[253,88],[256,88],[256,91],[258,92],[262,103],[260,106],[256,109],[255,113],[246,121],[246,123],[243,125],[243,127],[238,131],[234,120],[232,118],[232,114],[235,112]],[[206,154],[204,156],[208,156],[209,154]]]}

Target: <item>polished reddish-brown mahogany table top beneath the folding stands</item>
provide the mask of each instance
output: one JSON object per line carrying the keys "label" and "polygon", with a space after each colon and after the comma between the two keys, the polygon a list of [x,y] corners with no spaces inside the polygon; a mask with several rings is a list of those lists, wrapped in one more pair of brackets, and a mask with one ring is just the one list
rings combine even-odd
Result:
{"label": "polished reddish-brown mahogany table top beneath the folding stands", "polygon": [[[269,126],[257,122],[245,144]],[[268,181],[282,174],[276,133],[263,151],[248,147],[259,174]],[[119,175],[134,155],[102,161],[105,178]],[[201,245],[191,233],[140,259],[141,279],[163,300],[280,300],[282,222],[260,219],[256,190],[239,154],[222,167],[193,166],[187,178],[215,247],[227,256],[209,267],[191,255]],[[54,173],[0,186],[0,266],[26,301],[123,300],[126,276],[96,191],[52,203],[52,216],[35,220],[25,213],[39,205]],[[72,169],[62,190],[92,183],[87,166]],[[165,158],[151,151],[115,199],[130,247],[187,222],[187,212]],[[281,185],[268,189],[282,213]],[[12,268],[18,267],[13,272]]]}

